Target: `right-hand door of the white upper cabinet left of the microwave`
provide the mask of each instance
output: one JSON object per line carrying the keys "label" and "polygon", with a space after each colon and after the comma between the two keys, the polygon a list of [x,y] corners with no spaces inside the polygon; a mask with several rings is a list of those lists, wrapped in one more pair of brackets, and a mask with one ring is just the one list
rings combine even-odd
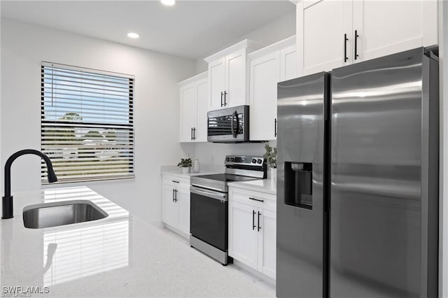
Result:
{"label": "right-hand door of the white upper cabinet left of the microwave", "polygon": [[207,142],[207,110],[209,108],[209,80],[199,80],[196,83],[197,125],[195,141]]}

